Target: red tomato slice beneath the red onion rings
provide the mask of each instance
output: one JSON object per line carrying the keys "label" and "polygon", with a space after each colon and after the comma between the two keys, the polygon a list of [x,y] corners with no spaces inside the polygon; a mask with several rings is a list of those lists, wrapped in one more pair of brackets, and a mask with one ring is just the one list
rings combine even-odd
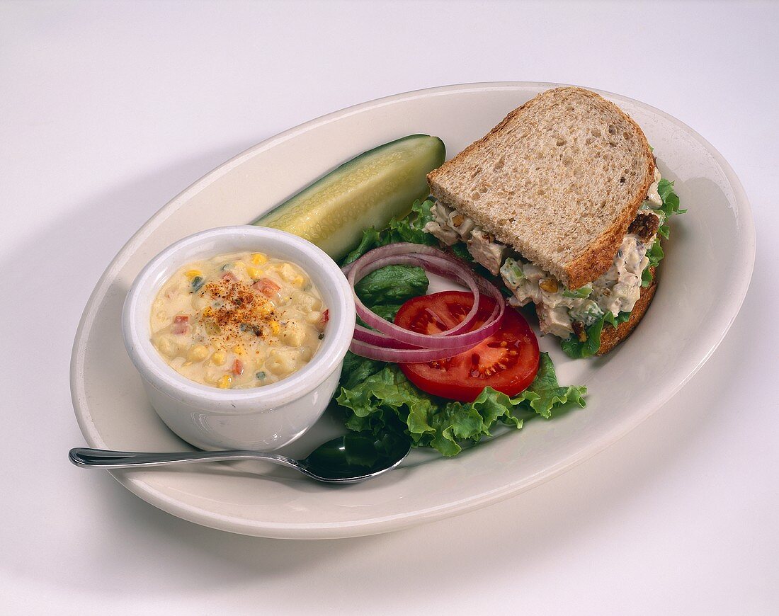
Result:
{"label": "red tomato slice beneath the red onion rings", "polygon": [[[474,296],[467,291],[421,295],[400,306],[395,324],[412,332],[440,333],[462,322],[473,305]],[[495,300],[481,297],[472,329],[481,326],[494,307]],[[538,340],[522,315],[506,308],[500,329],[476,347],[448,359],[399,365],[419,389],[449,400],[473,402],[488,386],[516,396],[538,372]]]}

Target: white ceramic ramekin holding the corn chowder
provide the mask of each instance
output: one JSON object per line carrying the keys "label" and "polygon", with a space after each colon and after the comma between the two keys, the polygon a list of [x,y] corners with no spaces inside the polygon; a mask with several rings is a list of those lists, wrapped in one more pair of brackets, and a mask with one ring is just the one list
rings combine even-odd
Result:
{"label": "white ceramic ramekin holding the corn chowder", "polygon": [[[178,268],[241,251],[301,266],[319,288],[330,321],[319,350],[301,370],[263,387],[218,389],[190,381],[160,357],[151,343],[150,311]],[[122,311],[125,347],[152,406],[172,431],[201,449],[270,451],[301,436],[333,397],[353,332],[351,287],[333,259],[308,241],[265,227],[220,227],[177,241],[139,273]]]}

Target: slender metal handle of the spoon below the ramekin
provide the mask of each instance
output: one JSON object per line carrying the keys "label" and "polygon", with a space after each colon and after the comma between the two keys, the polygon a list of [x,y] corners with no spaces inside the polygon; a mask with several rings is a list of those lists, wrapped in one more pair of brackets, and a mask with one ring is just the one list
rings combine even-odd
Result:
{"label": "slender metal handle of the spoon below the ramekin", "polygon": [[144,468],[146,466],[164,466],[166,464],[185,464],[194,462],[220,462],[224,460],[262,459],[273,464],[298,469],[298,463],[291,458],[275,453],[255,452],[234,449],[217,452],[116,452],[109,449],[90,449],[76,447],[68,453],[70,461],[84,468]]}

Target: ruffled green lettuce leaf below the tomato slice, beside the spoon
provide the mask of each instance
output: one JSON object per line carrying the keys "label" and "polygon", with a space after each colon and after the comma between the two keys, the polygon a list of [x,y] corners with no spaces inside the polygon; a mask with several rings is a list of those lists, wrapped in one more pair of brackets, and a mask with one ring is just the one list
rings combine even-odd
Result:
{"label": "ruffled green lettuce leaf below the tomato slice, beside the spoon", "polygon": [[[356,356],[354,356],[356,357]],[[400,431],[413,445],[432,447],[444,456],[455,456],[468,444],[491,436],[496,424],[522,428],[530,417],[551,418],[566,405],[583,407],[585,387],[560,387],[548,354],[542,353],[538,375],[515,398],[485,388],[472,403],[443,400],[422,392],[395,364],[347,358],[337,404],[344,410],[347,428],[380,435]],[[361,360],[361,361],[360,361]],[[375,370],[357,382],[347,370]]]}

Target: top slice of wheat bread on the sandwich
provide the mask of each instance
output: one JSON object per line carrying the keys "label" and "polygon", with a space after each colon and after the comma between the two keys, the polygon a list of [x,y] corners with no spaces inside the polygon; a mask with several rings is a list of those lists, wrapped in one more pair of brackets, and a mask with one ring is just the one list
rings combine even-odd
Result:
{"label": "top slice of wheat bread on the sandwich", "polygon": [[589,90],[547,90],[428,174],[471,216],[566,287],[612,266],[654,178],[641,128]]}

